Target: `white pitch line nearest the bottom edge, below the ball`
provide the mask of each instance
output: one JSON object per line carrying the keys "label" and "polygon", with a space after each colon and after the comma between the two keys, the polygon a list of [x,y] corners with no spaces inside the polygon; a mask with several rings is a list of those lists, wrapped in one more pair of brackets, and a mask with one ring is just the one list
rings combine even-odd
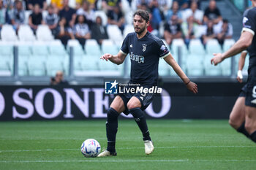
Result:
{"label": "white pitch line nearest the bottom edge, below the ball", "polygon": [[256,160],[189,160],[189,159],[166,159],[166,160],[31,160],[31,161],[0,161],[0,163],[78,163],[78,162],[104,162],[104,163],[129,163],[129,162],[256,162]]}

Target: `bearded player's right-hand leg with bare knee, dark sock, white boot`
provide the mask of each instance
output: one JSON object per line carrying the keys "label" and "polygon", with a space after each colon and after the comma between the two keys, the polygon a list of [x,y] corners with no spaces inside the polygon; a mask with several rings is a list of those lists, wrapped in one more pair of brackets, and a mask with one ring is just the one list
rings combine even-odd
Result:
{"label": "bearded player's right-hand leg with bare knee, dark sock, white boot", "polygon": [[137,123],[137,125],[140,128],[141,133],[143,134],[145,153],[146,153],[146,155],[149,155],[149,154],[151,154],[151,152],[153,152],[154,145],[149,136],[148,125],[146,123],[146,117],[145,117],[143,111],[140,109],[141,108],[140,100],[137,97],[133,96],[127,103],[127,107],[129,109],[129,112],[135,118],[135,122]]}

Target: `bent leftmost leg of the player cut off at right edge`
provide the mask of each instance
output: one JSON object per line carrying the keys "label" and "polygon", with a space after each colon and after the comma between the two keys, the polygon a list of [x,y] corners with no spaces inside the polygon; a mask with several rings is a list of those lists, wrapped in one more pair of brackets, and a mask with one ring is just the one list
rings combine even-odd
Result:
{"label": "bent leftmost leg of the player cut off at right edge", "polygon": [[234,105],[232,112],[230,113],[230,125],[236,129],[236,131],[244,134],[246,137],[249,137],[248,132],[246,131],[245,125],[245,97],[238,97],[236,104]]}

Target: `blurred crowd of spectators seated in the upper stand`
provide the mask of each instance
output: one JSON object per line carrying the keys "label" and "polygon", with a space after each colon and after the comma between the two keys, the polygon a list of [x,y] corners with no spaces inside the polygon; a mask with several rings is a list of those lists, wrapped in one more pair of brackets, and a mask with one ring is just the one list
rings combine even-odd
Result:
{"label": "blurred crowd of spectators seated in the upper stand", "polygon": [[[148,31],[165,39],[167,45],[173,39],[184,39],[187,46],[191,39],[201,39],[203,45],[208,39],[217,39],[223,45],[224,39],[233,35],[231,24],[222,18],[214,0],[206,9],[200,8],[200,0],[0,0],[0,30],[4,24],[12,24],[18,31],[26,20],[25,10],[31,10],[28,24],[34,32],[46,24],[64,46],[69,39],[78,39],[82,47],[86,39],[96,39],[101,45],[108,39],[108,25],[118,26],[123,33],[125,26],[132,24],[136,9],[149,12]],[[97,11],[105,12],[107,24]]]}

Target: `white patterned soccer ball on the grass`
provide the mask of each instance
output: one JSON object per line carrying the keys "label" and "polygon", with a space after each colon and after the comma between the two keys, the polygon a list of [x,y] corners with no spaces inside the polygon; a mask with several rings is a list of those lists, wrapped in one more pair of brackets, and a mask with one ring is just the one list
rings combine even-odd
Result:
{"label": "white patterned soccer ball on the grass", "polygon": [[99,155],[100,150],[100,144],[95,139],[86,139],[81,146],[81,152],[87,158],[97,157],[97,155]]}

